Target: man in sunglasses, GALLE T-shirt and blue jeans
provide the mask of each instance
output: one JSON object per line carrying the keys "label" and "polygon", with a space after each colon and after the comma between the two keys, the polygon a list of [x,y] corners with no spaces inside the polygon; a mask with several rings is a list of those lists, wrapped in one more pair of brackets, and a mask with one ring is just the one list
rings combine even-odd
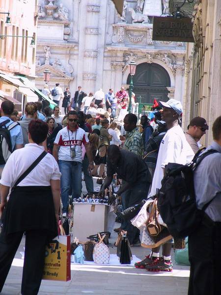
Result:
{"label": "man in sunglasses, GALLE T-shirt and blue jeans", "polygon": [[69,201],[70,184],[72,199],[80,198],[82,192],[82,145],[86,149],[89,161],[88,169],[94,169],[90,143],[85,131],[79,128],[78,115],[70,111],[67,115],[68,125],[61,129],[55,138],[53,156],[58,161],[61,172],[61,200],[63,215],[66,215]]}

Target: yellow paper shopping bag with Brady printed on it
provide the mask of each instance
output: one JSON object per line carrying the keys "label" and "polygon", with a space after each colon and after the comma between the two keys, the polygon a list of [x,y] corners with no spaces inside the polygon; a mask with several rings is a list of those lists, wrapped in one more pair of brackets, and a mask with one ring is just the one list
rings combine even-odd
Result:
{"label": "yellow paper shopping bag with Brady printed on it", "polygon": [[[60,232],[64,234],[61,226]],[[56,236],[46,245],[42,279],[64,282],[71,279],[70,236]]]}

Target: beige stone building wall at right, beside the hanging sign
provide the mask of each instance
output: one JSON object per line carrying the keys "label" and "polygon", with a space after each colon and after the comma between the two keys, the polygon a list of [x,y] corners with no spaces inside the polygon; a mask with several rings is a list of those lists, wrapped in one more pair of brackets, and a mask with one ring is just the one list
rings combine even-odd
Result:
{"label": "beige stone building wall at right, beside the hanging sign", "polygon": [[194,43],[187,46],[185,113],[183,127],[195,116],[206,118],[212,141],[212,124],[221,116],[221,1],[198,0],[193,12]]}

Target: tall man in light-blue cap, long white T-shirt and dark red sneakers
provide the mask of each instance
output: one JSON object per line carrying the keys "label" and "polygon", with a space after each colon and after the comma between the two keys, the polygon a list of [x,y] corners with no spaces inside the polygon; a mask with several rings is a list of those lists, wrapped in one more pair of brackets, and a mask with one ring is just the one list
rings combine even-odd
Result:
{"label": "tall man in light-blue cap, long white T-shirt and dark red sneakers", "polygon": [[[164,177],[165,166],[170,163],[187,164],[193,159],[194,153],[188,144],[182,128],[178,124],[178,118],[182,113],[182,105],[176,99],[169,99],[167,102],[160,101],[159,106],[163,107],[161,118],[166,122],[167,132],[160,144],[156,169],[152,181],[149,197],[156,195],[161,188],[161,181]],[[163,245],[162,256],[159,258],[160,246],[152,249],[152,252],[143,261],[136,263],[137,268],[145,268],[150,271],[171,271],[172,240]]]}

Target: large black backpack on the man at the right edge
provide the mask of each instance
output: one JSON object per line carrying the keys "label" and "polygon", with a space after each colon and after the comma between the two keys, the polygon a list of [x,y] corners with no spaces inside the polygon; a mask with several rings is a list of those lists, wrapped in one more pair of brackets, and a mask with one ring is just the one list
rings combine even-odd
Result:
{"label": "large black backpack on the man at the right edge", "polygon": [[200,210],[196,207],[193,174],[196,167],[208,155],[218,152],[210,149],[201,154],[199,150],[191,164],[168,163],[162,187],[157,193],[158,210],[173,237],[186,237],[200,225],[205,209],[212,200]]}

